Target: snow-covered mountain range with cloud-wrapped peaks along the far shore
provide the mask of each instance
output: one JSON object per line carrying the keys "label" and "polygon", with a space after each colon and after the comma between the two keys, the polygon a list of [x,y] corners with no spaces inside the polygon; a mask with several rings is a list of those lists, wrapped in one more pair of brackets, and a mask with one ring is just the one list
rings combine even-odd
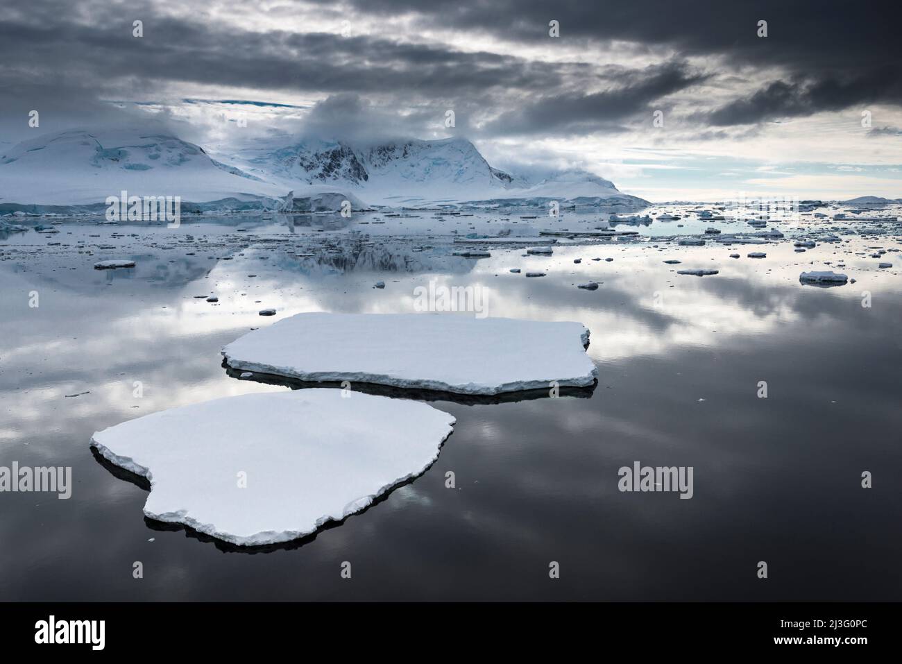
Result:
{"label": "snow-covered mountain range with cloud-wrapped peaks along the far shore", "polygon": [[428,207],[470,203],[647,204],[585,171],[538,182],[492,166],[461,138],[354,144],[304,140],[253,143],[217,159],[161,128],[73,129],[44,134],[0,154],[0,205],[90,205],[127,190],[203,203],[289,192],[303,208],[351,200],[358,206]]}

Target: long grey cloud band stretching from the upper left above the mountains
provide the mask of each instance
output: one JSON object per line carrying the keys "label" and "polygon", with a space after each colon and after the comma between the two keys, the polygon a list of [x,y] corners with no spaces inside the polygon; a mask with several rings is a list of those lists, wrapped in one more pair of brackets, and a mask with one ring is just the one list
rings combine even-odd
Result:
{"label": "long grey cloud band stretching from the upper left above the mountains", "polygon": [[[132,36],[136,17],[143,21],[140,39]],[[345,101],[382,96],[415,109],[407,117],[421,123],[438,107],[454,108],[463,129],[476,114],[511,112],[492,127],[505,134],[592,132],[617,130],[657,95],[694,82],[682,65],[643,73],[400,42],[390,32],[254,32],[203,18],[209,14],[175,20],[152,3],[32,0],[0,8],[0,84],[18,92],[5,113],[21,118],[40,107],[81,118],[100,112],[98,99],[153,98],[175,82],[351,96]],[[648,81],[637,79],[645,75]]]}

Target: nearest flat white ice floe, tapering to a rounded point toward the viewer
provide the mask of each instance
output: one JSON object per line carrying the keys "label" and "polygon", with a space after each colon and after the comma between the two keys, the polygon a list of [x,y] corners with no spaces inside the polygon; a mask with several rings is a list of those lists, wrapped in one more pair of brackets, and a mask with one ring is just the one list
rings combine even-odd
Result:
{"label": "nearest flat white ice floe, tapering to a rounded point toward the viewer", "polygon": [[144,514],[239,546],[298,539],[423,473],[454,417],[340,390],[242,394],[128,420],[91,445],[151,483]]}

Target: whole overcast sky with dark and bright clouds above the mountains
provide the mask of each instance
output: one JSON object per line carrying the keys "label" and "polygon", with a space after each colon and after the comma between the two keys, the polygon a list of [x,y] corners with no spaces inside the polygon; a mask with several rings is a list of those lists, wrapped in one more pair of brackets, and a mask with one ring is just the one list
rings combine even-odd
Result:
{"label": "whole overcast sky with dark and bright clouds above the mountains", "polygon": [[0,141],[121,116],[224,153],[458,135],[493,166],[582,167],[650,200],[896,198],[897,5],[4,0]]}

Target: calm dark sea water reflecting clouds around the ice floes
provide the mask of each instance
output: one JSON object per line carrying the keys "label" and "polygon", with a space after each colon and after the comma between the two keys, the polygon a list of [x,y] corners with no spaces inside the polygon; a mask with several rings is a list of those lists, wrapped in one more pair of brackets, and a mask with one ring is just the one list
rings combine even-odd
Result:
{"label": "calm dark sea water reflecting clouds around the ice floes", "polygon": [[[0,240],[0,465],[72,466],[74,483],[68,501],[0,493],[0,597],[902,599],[902,256],[886,254],[895,266],[884,270],[869,256],[897,249],[897,228],[804,254],[787,241],[651,239],[474,260],[449,255],[451,229],[535,234],[590,229],[599,217],[375,217],[387,223],[66,223],[55,235]],[[678,232],[708,226],[718,224]],[[137,267],[93,269],[109,258]],[[672,258],[683,263],[662,263]],[[836,263],[857,282],[799,283],[800,272]],[[693,267],[721,272],[674,272]],[[91,434],[120,421],[288,389],[221,366],[220,348],[251,327],[309,310],[412,311],[414,288],[433,279],[481,285],[492,316],[584,322],[598,385],[560,399],[434,401],[457,424],[426,474],[271,550],[145,521],[145,488],[92,455]],[[380,280],[385,289],[373,289]],[[575,288],[590,280],[597,291]],[[257,315],[267,307],[277,316]],[[757,396],[762,380],[767,399]],[[619,492],[618,469],[634,461],[693,466],[695,496]],[[448,470],[456,489],[445,487]],[[861,488],[865,470],[871,489]],[[137,560],[143,579],[132,576]],[[351,580],[339,575],[345,560]],[[557,580],[549,561],[560,564]]]}

